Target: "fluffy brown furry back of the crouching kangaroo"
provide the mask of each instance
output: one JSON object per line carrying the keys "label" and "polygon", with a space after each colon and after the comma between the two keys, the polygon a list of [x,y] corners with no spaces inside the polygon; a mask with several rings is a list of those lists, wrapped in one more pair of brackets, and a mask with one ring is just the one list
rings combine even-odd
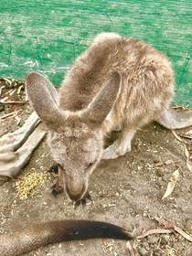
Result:
{"label": "fluffy brown furry back of the crouching kangaroo", "polygon": [[[114,33],[100,34],[76,59],[62,83],[60,108],[86,108],[114,70],[122,75],[122,88],[111,112],[113,119],[138,127],[168,108],[174,94],[169,60],[144,41]],[[124,113],[129,113],[129,120]]]}

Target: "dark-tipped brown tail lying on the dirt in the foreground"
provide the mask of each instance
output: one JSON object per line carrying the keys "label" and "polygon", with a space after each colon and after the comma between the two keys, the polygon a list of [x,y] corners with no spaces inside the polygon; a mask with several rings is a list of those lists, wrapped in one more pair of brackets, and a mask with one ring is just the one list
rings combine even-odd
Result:
{"label": "dark-tipped brown tail lying on the dirt in the foreground", "polygon": [[0,255],[16,256],[52,243],[95,238],[132,240],[133,236],[125,229],[106,222],[91,220],[50,221],[0,235]]}

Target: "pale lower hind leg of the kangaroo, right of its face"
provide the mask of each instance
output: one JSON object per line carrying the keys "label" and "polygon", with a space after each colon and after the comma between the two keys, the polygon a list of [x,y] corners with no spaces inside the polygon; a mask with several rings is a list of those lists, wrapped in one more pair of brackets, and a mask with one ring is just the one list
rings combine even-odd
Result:
{"label": "pale lower hind leg of the kangaroo, right of its face", "polygon": [[115,159],[118,156],[131,151],[131,142],[134,132],[135,130],[126,130],[126,128],[123,127],[123,131],[120,133],[119,138],[112,145],[104,149],[101,158]]}

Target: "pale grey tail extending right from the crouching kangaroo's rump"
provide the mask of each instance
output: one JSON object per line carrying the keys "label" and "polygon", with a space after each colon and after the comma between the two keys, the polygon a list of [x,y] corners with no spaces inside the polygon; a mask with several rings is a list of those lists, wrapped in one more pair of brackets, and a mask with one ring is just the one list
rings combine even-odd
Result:
{"label": "pale grey tail extending right from the crouching kangaroo's rump", "polygon": [[192,125],[192,111],[176,112],[171,106],[155,119],[168,129],[180,129]]}

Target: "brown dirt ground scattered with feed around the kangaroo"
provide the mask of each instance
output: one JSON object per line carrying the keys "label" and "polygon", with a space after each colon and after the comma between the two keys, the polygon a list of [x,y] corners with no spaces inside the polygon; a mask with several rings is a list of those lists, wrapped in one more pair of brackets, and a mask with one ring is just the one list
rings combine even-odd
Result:
{"label": "brown dirt ground scattered with feed around the kangaroo", "polygon": [[[5,92],[9,91],[3,89],[1,99],[5,98]],[[11,97],[9,101],[23,101],[25,93],[15,92]],[[0,109],[0,137],[23,125],[31,112],[28,103],[0,104]],[[15,117],[4,117],[10,112],[16,112]],[[188,127],[176,133],[186,134],[191,129]],[[146,230],[162,229],[153,218],[155,216],[174,223],[192,236],[192,173],[187,168],[184,152],[184,145],[187,145],[188,153],[191,153],[192,139],[185,138],[185,141],[180,142],[171,131],[157,123],[150,123],[139,130],[133,138],[130,153],[115,160],[101,161],[97,166],[90,179],[92,201],[88,201],[85,208],[80,206],[74,209],[65,194],[51,196],[50,187],[56,179],[53,174],[48,176],[44,185],[38,187],[33,197],[26,199],[21,199],[16,189],[19,179],[9,179],[0,187],[0,233],[50,219],[93,219],[120,225],[138,236]],[[19,182],[25,182],[27,174],[47,171],[52,164],[44,139],[22,170]],[[176,187],[169,197],[162,199],[169,179],[176,170],[179,171]],[[192,243],[177,232],[149,235],[131,241],[131,244],[135,256],[192,255]],[[49,245],[26,255],[130,254],[125,241],[80,240]]]}

